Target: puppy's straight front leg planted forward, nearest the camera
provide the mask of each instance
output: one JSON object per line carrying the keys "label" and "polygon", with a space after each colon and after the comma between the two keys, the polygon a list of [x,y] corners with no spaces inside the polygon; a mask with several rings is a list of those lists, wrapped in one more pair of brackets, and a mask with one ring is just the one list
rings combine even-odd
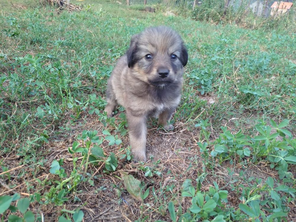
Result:
{"label": "puppy's straight front leg planted forward, nearest the camera", "polygon": [[146,162],[147,117],[127,112],[129,139],[134,162]]}

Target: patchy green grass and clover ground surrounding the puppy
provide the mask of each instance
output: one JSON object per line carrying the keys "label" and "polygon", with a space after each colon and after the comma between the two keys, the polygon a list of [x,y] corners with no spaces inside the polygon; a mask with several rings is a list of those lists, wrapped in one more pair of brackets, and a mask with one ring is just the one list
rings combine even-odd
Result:
{"label": "patchy green grass and clover ground surrounding the puppy", "polygon": [[[83,3],[4,1],[1,221],[295,221],[295,32]],[[102,110],[116,59],[152,25],[178,30],[189,62],[175,130],[149,120],[134,165],[124,109]]]}

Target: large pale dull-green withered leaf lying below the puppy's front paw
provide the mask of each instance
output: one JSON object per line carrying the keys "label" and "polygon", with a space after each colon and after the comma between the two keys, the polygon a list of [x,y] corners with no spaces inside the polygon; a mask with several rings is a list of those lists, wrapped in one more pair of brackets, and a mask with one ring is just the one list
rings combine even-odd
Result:
{"label": "large pale dull-green withered leaf lying below the puppy's front paw", "polygon": [[136,200],[142,201],[141,198],[141,181],[134,178],[132,175],[120,172],[123,184],[129,194]]}

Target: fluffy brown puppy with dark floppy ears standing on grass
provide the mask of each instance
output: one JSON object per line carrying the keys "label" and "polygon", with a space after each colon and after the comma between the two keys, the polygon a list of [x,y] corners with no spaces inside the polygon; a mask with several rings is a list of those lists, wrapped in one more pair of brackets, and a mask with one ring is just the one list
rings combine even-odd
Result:
{"label": "fluffy brown puppy with dark floppy ears standing on grass", "polygon": [[146,162],[146,121],[158,117],[165,129],[181,98],[188,54],[181,37],[164,26],[147,28],[131,39],[107,86],[108,117],[119,103],[126,109],[134,161]]}

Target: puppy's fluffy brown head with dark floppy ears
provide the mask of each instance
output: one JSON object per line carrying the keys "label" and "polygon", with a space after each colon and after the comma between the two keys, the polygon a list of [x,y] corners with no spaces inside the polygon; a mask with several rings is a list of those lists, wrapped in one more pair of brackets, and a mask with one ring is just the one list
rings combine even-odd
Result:
{"label": "puppy's fluffy brown head with dark floppy ears", "polygon": [[168,27],[133,36],[127,57],[135,78],[160,88],[180,80],[188,60],[181,37]]}

